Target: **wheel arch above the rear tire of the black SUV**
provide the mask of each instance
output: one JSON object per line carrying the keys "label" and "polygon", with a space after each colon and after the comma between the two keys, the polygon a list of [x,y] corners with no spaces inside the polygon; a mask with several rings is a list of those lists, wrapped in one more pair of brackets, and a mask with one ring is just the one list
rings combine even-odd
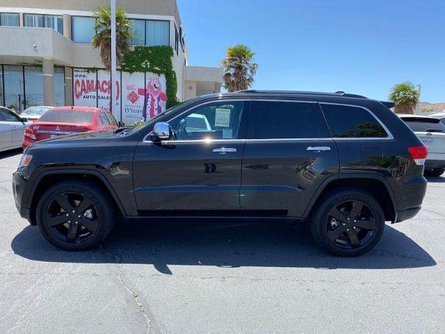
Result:
{"label": "wheel arch above the rear tire of the black SUV", "polygon": [[326,179],[312,196],[304,217],[310,216],[324,194],[336,187],[355,187],[369,192],[383,208],[385,220],[392,223],[397,221],[396,199],[388,181],[383,176],[366,173],[335,175]]}

